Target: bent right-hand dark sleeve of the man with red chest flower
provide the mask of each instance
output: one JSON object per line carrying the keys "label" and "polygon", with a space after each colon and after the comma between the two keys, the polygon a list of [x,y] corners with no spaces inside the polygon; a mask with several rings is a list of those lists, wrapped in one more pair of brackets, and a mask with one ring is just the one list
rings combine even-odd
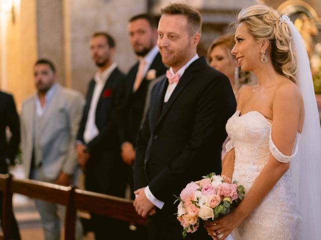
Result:
{"label": "bent right-hand dark sleeve of the man with red chest flower", "polygon": [[115,127],[117,129],[117,134],[119,135],[118,129],[120,122],[118,120],[120,119],[121,108],[123,106],[124,100],[124,80],[125,79],[123,75],[117,79],[118,86],[117,89],[115,89],[115,91],[113,92],[113,94],[115,93],[114,106],[112,107],[112,110],[110,112],[111,119],[99,132],[99,134],[95,136],[90,142],[88,142],[87,147],[89,152],[93,152],[95,151],[95,149],[108,144],[107,140],[109,139],[110,132],[112,132]]}

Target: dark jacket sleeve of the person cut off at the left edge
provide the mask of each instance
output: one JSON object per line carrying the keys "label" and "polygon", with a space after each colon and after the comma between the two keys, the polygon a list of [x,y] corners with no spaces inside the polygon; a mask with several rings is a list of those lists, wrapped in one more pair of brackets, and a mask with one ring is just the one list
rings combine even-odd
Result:
{"label": "dark jacket sleeve of the person cut off at the left edge", "polygon": [[20,143],[20,121],[14,97],[12,95],[9,95],[7,104],[8,112],[6,120],[7,125],[9,126],[10,131],[12,133],[12,136],[10,138],[8,147],[6,147],[6,157],[10,159],[11,163],[14,163]]}

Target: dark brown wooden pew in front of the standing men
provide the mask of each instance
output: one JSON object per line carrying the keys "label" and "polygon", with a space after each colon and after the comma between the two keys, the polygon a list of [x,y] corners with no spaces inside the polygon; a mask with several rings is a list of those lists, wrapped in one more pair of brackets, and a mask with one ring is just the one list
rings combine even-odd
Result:
{"label": "dark brown wooden pew in front of the standing men", "polygon": [[41,182],[30,179],[17,179],[0,174],[0,190],[4,192],[4,237],[10,240],[12,194],[19,193],[32,198],[55,202],[66,206],[65,235],[68,240],[75,239],[77,209],[85,210],[112,218],[146,225],[146,219],[139,216],[133,201],[125,198],[75,189],[71,186]]}

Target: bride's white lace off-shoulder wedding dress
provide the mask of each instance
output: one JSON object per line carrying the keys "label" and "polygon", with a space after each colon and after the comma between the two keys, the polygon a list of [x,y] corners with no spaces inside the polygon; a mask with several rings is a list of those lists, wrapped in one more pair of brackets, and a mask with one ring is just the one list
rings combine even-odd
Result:
{"label": "bride's white lace off-shoulder wedding dress", "polygon": [[[271,137],[272,123],[260,112],[250,111],[240,116],[236,111],[226,124],[231,140],[226,150],[235,149],[233,180],[244,185],[246,192],[266,164],[271,152],[286,161]],[[300,134],[297,133],[294,153]],[[280,160],[279,159],[279,160]],[[263,201],[232,232],[235,240],[302,239],[300,217],[295,202],[292,179],[287,171]]]}

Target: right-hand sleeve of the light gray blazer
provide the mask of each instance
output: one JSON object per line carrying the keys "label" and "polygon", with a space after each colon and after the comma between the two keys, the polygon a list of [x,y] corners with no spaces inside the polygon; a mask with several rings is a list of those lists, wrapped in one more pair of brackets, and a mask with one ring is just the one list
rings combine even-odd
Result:
{"label": "right-hand sleeve of the light gray blazer", "polygon": [[83,106],[84,99],[82,95],[80,95],[79,93],[72,98],[69,106],[70,109],[68,109],[70,124],[70,141],[68,143],[68,151],[66,153],[66,158],[62,167],[62,171],[71,175],[75,173],[75,167],[77,166],[75,139],[82,115]]}

